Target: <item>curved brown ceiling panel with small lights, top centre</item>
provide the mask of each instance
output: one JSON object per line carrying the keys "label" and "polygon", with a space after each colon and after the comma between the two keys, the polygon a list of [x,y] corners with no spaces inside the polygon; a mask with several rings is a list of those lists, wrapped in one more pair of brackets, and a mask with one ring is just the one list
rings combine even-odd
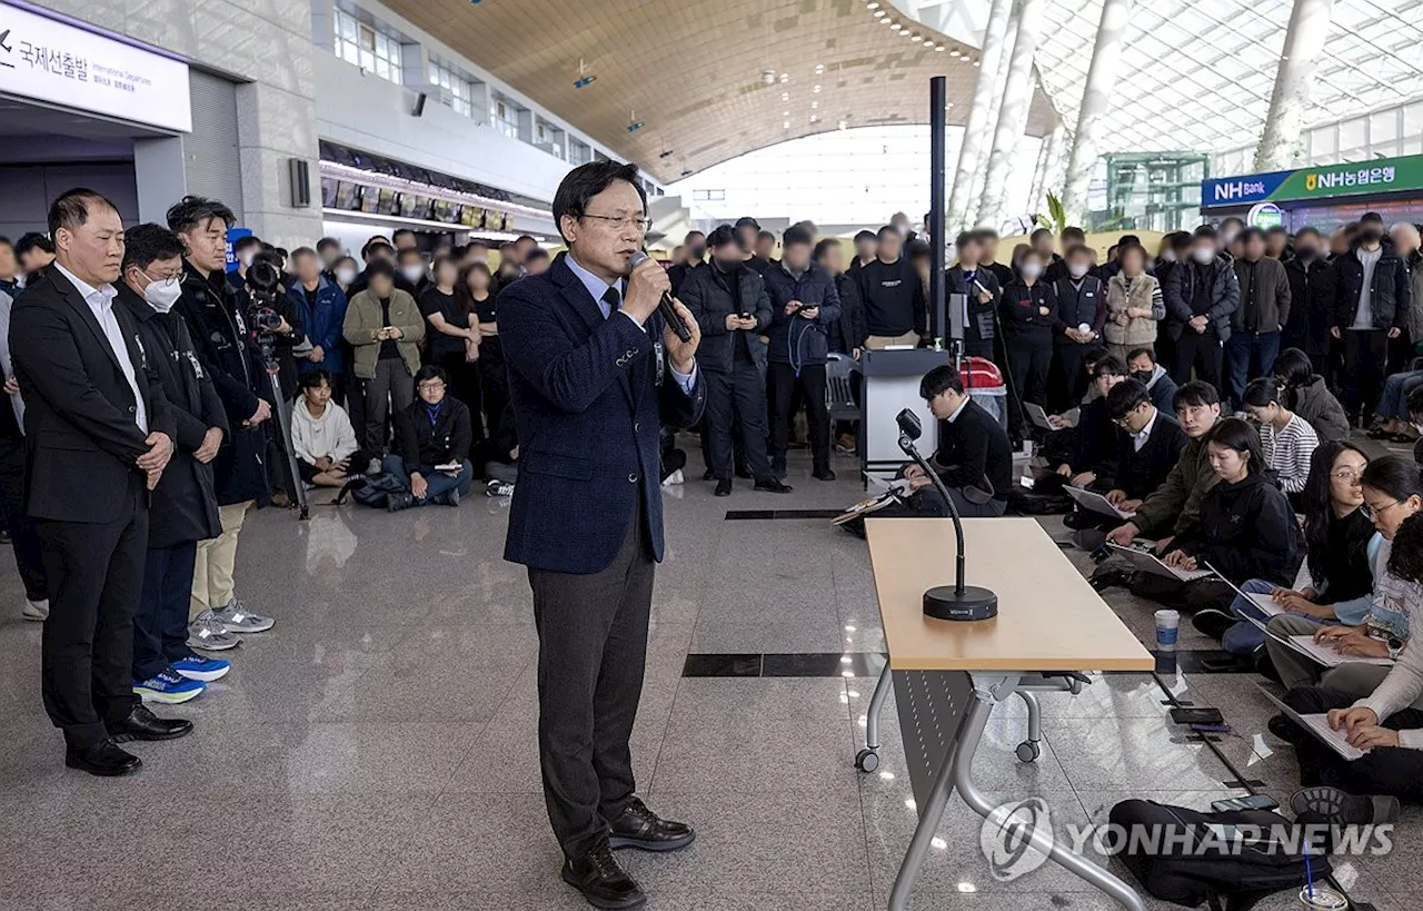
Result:
{"label": "curved brown ceiling panel with small lights, top centre", "polygon": [[[979,73],[976,47],[888,0],[384,3],[663,182],[841,124],[928,122],[933,75],[962,124]],[[1029,135],[1054,118],[1036,91]]]}

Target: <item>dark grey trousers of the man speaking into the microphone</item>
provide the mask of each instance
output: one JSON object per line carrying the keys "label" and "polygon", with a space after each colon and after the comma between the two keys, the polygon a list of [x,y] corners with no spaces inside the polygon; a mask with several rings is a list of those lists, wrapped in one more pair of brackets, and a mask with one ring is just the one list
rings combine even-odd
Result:
{"label": "dark grey trousers of the man speaking into the microphone", "polygon": [[639,507],[613,562],[588,575],[529,568],[538,628],[538,743],[559,847],[591,850],[636,790],[633,720],[647,663],[656,564]]}

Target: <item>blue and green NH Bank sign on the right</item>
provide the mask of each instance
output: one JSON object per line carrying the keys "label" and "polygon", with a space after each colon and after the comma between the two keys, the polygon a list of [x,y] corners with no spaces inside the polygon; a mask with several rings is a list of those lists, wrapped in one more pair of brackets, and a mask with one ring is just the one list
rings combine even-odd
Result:
{"label": "blue and green NH Bank sign on the right", "polygon": [[1423,155],[1201,181],[1201,208],[1423,192]]}

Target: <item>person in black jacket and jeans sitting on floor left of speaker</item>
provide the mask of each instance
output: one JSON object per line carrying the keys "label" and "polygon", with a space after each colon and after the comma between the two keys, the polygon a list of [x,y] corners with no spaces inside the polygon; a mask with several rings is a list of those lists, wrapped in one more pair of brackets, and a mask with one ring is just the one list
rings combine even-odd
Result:
{"label": "person in black jacket and jeans sitting on floor left of speaker", "polygon": [[400,454],[387,456],[383,467],[400,478],[408,493],[387,498],[391,512],[430,502],[457,507],[460,497],[470,493],[474,465],[468,453],[474,430],[468,406],[445,394],[448,383],[441,367],[421,367],[416,373],[416,401],[396,414]]}

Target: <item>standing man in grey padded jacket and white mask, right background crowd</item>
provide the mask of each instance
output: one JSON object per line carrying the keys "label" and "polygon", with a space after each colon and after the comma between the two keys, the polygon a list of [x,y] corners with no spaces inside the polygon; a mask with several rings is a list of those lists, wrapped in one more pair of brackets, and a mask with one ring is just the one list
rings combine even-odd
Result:
{"label": "standing man in grey padded jacket and white mask, right background crowd", "polygon": [[1191,259],[1167,276],[1165,335],[1175,347],[1171,379],[1197,379],[1221,390],[1224,344],[1231,337],[1231,315],[1241,305],[1241,285],[1228,253],[1220,252],[1215,229],[1201,225],[1191,235]]}

